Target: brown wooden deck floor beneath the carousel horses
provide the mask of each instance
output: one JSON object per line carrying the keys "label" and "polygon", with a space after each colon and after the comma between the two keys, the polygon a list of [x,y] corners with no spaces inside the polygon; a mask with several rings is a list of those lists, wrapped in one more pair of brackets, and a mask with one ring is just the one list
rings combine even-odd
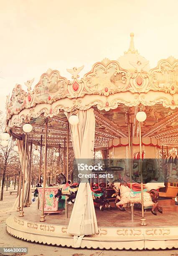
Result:
{"label": "brown wooden deck floor beneath the carousel horses", "polygon": [[[46,222],[50,224],[62,224],[68,225],[73,204],[69,205],[69,218],[65,218],[65,211],[62,213],[53,213],[46,215]],[[104,210],[103,212],[99,210],[98,207],[95,207],[97,215],[97,223],[99,227],[135,227],[140,226],[141,210],[134,209],[134,222],[131,219],[130,208],[126,208],[125,212],[118,210],[116,207],[112,207],[111,210]],[[15,215],[19,215],[16,212]],[[36,203],[33,203],[31,207],[24,208],[24,217],[25,220],[31,221],[40,221],[41,211],[37,210]],[[157,216],[153,215],[150,210],[145,212],[145,218],[147,221],[147,226],[175,226],[178,225],[178,212],[170,213],[159,213]]]}

